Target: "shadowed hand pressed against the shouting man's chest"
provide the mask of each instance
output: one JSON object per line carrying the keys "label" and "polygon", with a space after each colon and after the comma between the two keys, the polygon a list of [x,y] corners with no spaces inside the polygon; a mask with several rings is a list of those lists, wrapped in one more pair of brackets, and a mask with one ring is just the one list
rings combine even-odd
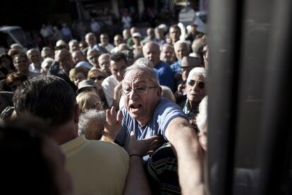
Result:
{"label": "shadowed hand pressed against the shouting man's chest", "polygon": [[163,139],[160,136],[151,136],[142,140],[137,140],[135,132],[130,132],[129,154],[138,154],[140,156],[152,155],[162,143]]}

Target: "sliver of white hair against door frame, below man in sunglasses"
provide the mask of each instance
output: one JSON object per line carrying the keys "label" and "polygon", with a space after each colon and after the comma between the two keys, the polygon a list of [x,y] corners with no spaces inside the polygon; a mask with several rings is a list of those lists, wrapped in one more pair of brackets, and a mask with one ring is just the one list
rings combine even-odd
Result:
{"label": "sliver of white hair against door frame, below man in sunglasses", "polygon": [[197,128],[199,131],[206,128],[207,126],[207,107],[208,107],[208,96],[202,99],[199,105],[199,113],[196,117]]}

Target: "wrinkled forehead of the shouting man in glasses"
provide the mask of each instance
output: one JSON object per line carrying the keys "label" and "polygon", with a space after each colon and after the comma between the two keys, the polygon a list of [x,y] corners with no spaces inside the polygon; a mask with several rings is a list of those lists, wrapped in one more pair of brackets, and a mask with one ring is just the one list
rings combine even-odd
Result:
{"label": "wrinkled forehead of the shouting man in glasses", "polygon": [[126,72],[123,78],[123,85],[133,85],[133,84],[147,84],[152,82],[152,78],[149,73],[142,70],[131,70]]}

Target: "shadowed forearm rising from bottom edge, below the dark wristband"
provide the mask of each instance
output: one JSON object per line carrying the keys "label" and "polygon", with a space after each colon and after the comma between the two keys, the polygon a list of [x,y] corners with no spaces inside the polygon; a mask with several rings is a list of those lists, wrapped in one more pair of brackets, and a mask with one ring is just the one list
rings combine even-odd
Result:
{"label": "shadowed forearm rising from bottom edge, below the dark wristband", "polygon": [[130,157],[130,167],[123,194],[151,194],[150,187],[139,156]]}

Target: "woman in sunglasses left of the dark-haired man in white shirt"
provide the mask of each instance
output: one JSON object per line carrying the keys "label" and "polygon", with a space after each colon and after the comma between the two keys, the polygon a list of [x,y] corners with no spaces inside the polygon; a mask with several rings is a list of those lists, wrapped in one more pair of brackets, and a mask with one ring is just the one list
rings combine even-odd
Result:
{"label": "woman in sunglasses left of the dark-haired man in white shirt", "polygon": [[102,81],[104,81],[104,78],[107,78],[107,73],[102,71],[102,69],[96,69],[92,68],[87,73],[87,79],[91,79],[92,81],[95,81],[95,84],[97,85],[97,93],[99,95],[99,98],[102,102],[102,108],[106,110],[109,108],[109,105],[107,104],[107,99],[104,95],[104,90],[102,89]]}

